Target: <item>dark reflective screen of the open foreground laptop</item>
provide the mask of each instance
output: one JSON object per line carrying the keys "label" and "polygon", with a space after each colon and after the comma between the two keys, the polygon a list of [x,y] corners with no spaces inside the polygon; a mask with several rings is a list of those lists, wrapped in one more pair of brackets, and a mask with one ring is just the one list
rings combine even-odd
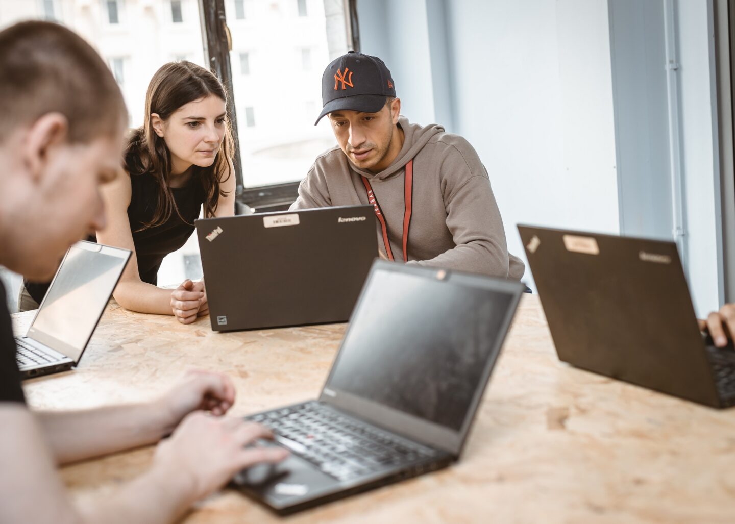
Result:
{"label": "dark reflective screen of the open foreground laptop", "polygon": [[326,387],[460,431],[517,293],[392,270],[363,293]]}

